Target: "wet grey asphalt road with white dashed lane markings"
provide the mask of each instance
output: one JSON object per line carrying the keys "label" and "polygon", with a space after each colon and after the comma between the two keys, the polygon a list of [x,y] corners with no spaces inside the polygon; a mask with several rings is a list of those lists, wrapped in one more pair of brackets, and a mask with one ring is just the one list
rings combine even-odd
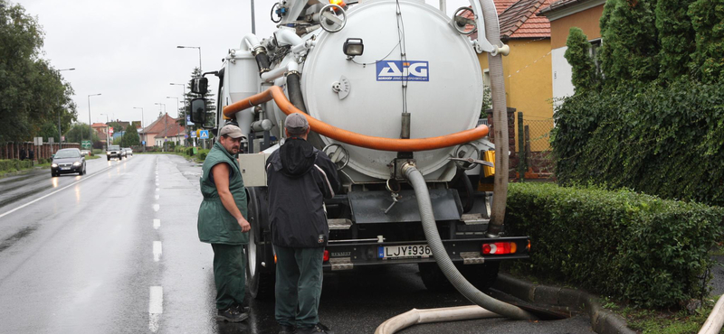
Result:
{"label": "wet grey asphalt road with white dashed lane markings", "polygon": [[[200,166],[176,155],[88,162],[0,179],[0,332],[276,333],[273,301],[250,320],[214,320],[211,246],[198,242]],[[320,319],[372,333],[413,308],[469,305],[427,292],[414,265],[324,275]],[[400,333],[593,333],[587,317],[469,320]]]}

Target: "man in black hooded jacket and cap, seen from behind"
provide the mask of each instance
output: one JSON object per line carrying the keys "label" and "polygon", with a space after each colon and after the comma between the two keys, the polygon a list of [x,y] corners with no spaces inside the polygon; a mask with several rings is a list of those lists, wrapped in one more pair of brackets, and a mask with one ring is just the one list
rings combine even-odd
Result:
{"label": "man in black hooded jacket and cap, seen from behind", "polygon": [[274,316],[280,334],[332,333],[319,323],[322,262],[329,238],[324,199],[338,190],[337,168],[307,142],[301,114],[285,120],[287,140],[267,159],[271,243],[277,255]]}

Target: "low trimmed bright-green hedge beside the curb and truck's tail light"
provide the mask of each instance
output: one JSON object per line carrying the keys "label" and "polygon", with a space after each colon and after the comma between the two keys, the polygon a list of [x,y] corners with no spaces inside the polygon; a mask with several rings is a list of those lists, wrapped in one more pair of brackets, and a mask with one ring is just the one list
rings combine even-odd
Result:
{"label": "low trimmed bright-green hedge beside the curb and truck's tail light", "polygon": [[706,296],[724,209],[628,190],[511,183],[506,226],[530,270],[646,307]]}

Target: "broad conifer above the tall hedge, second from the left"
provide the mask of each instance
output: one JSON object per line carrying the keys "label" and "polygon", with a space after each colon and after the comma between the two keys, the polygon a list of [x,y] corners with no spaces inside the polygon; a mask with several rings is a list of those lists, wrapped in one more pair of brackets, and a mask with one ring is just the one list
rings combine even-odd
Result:
{"label": "broad conifer above the tall hedge, second from the left", "polygon": [[607,87],[659,77],[654,0],[608,0],[601,17],[601,69]]}

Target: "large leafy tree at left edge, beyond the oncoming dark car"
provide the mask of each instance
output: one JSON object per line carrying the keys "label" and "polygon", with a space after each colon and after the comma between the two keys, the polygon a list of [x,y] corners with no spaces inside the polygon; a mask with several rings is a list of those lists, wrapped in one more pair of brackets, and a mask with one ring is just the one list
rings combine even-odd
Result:
{"label": "large leafy tree at left edge, beyond the oncoming dark car", "polygon": [[42,27],[22,5],[0,8],[0,143],[39,136],[59,114],[66,126],[76,119],[72,89],[40,59],[42,46]]}

